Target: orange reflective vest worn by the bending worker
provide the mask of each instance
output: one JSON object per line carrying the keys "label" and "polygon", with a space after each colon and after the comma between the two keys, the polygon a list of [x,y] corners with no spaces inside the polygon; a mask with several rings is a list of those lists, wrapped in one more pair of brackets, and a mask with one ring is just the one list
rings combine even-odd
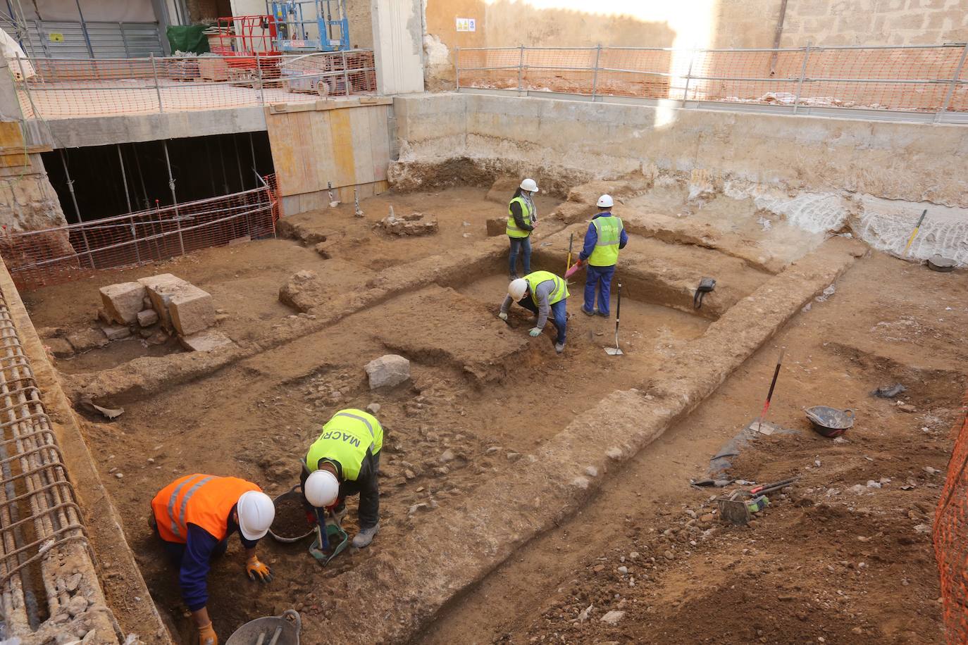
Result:
{"label": "orange reflective vest worn by the bending worker", "polygon": [[236,477],[189,475],[162,488],[151,500],[158,533],[166,542],[184,544],[188,525],[195,524],[222,542],[226,538],[228,513],[247,490],[256,484]]}

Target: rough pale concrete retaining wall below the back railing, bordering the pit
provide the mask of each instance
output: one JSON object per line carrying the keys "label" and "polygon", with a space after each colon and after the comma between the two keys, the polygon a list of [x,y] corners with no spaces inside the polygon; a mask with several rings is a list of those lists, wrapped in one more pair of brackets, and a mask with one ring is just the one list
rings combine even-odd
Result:
{"label": "rough pale concrete retaining wall below the back railing, bordering the pit", "polygon": [[544,181],[676,181],[894,251],[927,208],[912,255],[968,262],[962,126],[470,94],[394,105],[404,165],[469,157]]}

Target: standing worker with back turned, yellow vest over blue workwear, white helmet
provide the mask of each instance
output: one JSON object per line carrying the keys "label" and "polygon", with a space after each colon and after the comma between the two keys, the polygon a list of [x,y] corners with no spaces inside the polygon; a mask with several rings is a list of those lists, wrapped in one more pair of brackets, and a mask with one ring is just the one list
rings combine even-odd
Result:
{"label": "standing worker with back turned, yellow vest over blue workwear, white helmet", "polygon": [[[612,215],[612,196],[603,194],[597,202],[598,214],[591,219],[585,234],[585,247],[578,254],[585,263],[588,277],[585,281],[585,305],[582,312],[609,317],[612,296],[612,276],[619,261],[619,249],[628,244],[628,234],[621,220]],[[598,308],[595,309],[595,287],[598,287]]]}

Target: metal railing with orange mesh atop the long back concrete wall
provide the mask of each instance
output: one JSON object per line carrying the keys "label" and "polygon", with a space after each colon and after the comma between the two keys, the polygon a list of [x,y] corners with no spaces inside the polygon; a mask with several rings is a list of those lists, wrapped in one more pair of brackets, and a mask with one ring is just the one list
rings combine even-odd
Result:
{"label": "metal railing with orange mesh atop the long back concrete wall", "polygon": [[[689,103],[968,112],[968,44],[756,49],[471,47],[457,89],[557,92]],[[899,116],[899,115],[894,115]]]}

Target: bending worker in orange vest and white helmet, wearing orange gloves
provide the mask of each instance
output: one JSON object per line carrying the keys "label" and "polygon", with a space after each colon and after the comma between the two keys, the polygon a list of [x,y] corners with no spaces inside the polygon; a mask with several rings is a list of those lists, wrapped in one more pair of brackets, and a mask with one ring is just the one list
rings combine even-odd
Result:
{"label": "bending worker in orange vest and white helmet, wearing orange gloves", "polygon": [[209,563],[226,552],[228,536],[239,532],[246,572],[269,582],[272,572],[259,562],[256,544],[269,531],[276,507],[256,484],[235,477],[189,475],[166,485],[151,500],[148,523],[179,568],[182,598],[195,616],[199,645],[218,645],[205,604]]}

